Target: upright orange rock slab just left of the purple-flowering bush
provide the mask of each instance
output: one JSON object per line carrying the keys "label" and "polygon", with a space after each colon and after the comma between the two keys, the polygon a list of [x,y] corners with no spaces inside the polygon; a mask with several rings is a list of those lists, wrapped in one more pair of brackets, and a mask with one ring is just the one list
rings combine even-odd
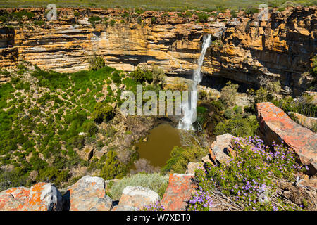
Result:
{"label": "upright orange rock slab just left of the purple-flowering bush", "polygon": [[161,205],[166,211],[185,211],[188,201],[195,191],[192,183],[194,174],[170,174],[168,188],[164,193]]}

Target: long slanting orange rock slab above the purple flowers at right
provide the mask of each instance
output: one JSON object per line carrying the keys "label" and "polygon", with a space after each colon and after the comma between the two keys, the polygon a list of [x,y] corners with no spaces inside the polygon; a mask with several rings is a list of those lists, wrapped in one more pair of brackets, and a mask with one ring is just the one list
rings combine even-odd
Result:
{"label": "long slanting orange rock slab above the purple flowers at right", "polygon": [[310,165],[311,175],[317,169],[317,134],[294,122],[273,103],[256,104],[256,116],[260,122],[261,138],[266,144],[285,142],[298,155],[303,165]]}

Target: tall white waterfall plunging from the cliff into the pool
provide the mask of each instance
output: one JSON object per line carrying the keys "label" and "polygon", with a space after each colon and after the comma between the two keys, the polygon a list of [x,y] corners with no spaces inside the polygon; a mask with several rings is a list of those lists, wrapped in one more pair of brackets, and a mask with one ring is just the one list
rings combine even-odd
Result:
{"label": "tall white waterfall plunging from the cliff into the pool", "polygon": [[202,44],[201,54],[198,59],[197,68],[194,70],[192,77],[192,86],[189,88],[188,101],[182,103],[183,117],[178,124],[179,129],[193,130],[193,122],[196,121],[196,110],[197,110],[197,86],[201,82],[201,66],[204,63],[205,53],[211,44],[211,34],[204,36]]}

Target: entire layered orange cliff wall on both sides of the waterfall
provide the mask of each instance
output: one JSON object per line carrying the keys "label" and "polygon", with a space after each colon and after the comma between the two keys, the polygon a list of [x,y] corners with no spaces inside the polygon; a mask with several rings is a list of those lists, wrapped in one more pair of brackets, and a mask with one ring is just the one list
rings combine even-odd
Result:
{"label": "entire layered orange cliff wall on both sides of the waterfall", "polygon": [[[271,11],[267,21],[259,13],[237,18],[230,13],[211,16],[197,23],[197,15],[144,12],[123,23],[123,11],[58,8],[58,20],[34,25],[24,18],[0,29],[1,68],[22,60],[40,68],[75,72],[89,68],[94,54],[106,65],[132,71],[137,65],[158,65],[168,74],[189,75],[196,67],[204,34],[213,34],[205,56],[205,75],[259,84],[259,76],[279,79],[285,91],[299,94],[301,75],[311,68],[316,53],[316,6]],[[14,9],[0,9],[0,12]],[[28,9],[37,20],[46,20],[44,8]],[[74,12],[79,12],[75,16]],[[89,23],[99,16],[114,25]],[[153,23],[152,18],[155,18]]]}

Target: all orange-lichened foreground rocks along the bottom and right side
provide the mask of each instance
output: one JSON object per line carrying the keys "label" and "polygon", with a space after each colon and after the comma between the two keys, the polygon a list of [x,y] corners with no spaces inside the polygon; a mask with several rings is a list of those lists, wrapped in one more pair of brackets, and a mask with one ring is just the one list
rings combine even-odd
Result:
{"label": "all orange-lichened foreground rocks along the bottom and right side", "polygon": [[[258,103],[257,117],[260,122],[261,133],[266,143],[284,141],[287,146],[298,155],[299,163],[309,165],[309,174],[302,174],[301,185],[283,184],[281,191],[289,196],[294,203],[308,198],[309,203],[317,205],[316,194],[311,197],[305,186],[317,188],[317,134],[292,121],[280,108],[272,103]],[[211,144],[209,154],[201,159],[202,162],[189,162],[186,174],[170,174],[168,188],[159,198],[159,194],[149,188],[141,186],[127,186],[119,201],[106,195],[106,184],[101,177],[83,176],[67,191],[60,191],[50,183],[38,183],[30,188],[9,188],[0,193],[0,210],[9,211],[126,211],[140,210],[152,203],[161,202],[165,210],[186,210],[187,203],[197,186],[194,184],[194,170],[204,166],[228,163],[229,155],[235,155],[231,134],[217,136]],[[308,176],[309,175],[309,176]],[[314,210],[312,207],[311,210]],[[316,209],[315,209],[316,210]]]}

